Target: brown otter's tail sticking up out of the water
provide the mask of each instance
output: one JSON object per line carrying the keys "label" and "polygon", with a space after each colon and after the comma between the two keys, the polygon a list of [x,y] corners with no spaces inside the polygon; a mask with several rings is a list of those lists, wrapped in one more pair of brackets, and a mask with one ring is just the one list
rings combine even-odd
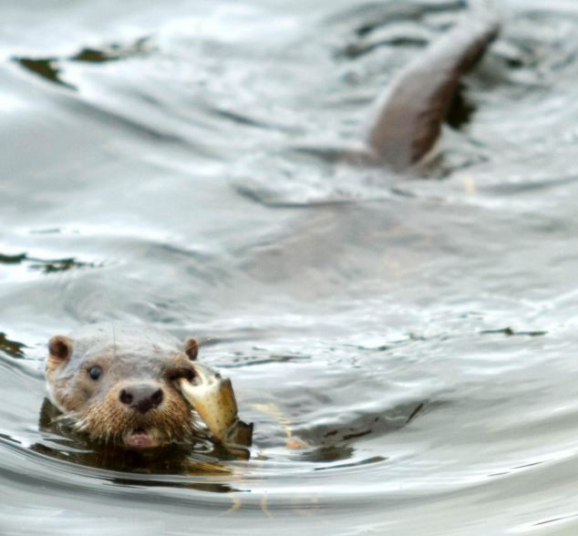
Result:
{"label": "brown otter's tail sticking up out of the water", "polygon": [[369,132],[374,159],[393,170],[405,170],[432,149],[460,77],[499,30],[496,18],[471,16],[428,46],[394,79],[379,99],[377,120]]}

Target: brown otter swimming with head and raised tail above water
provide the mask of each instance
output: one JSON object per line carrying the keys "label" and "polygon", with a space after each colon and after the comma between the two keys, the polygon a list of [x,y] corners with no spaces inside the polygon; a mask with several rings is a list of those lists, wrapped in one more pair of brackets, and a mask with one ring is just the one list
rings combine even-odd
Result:
{"label": "brown otter swimming with head and raised tail above water", "polygon": [[[495,20],[471,20],[429,46],[394,80],[380,99],[364,161],[400,171],[428,155],[460,78],[499,31]],[[216,437],[226,436],[222,419],[212,418],[222,412],[215,409],[219,404],[203,404],[202,392],[186,384],[212,374],[195,368],[199,345],[193,338],[181,343],[148,326],[97,324],[54,336],[48,346],[49,397],[90,439],[128,448],[190,442],[198,434],[194,404],[204,408],[207,424],[217,423]]]}

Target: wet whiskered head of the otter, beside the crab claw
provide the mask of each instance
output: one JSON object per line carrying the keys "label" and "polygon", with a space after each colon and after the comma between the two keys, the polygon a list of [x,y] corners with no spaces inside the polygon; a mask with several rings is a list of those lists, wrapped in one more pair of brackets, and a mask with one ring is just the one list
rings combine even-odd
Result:
{"label": "wet whiskered head of the otter, beside the crab claw", "polygon": [[191,441],[194,417],[178,382],[198,345],[152,329],[91,325],[48,344],[51,401],[92,440],[152,448]]}

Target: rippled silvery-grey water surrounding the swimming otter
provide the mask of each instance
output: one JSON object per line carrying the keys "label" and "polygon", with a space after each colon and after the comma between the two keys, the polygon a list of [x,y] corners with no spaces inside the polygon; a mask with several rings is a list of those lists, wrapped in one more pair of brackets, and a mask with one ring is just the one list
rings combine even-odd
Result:
{"label": "rippled silvery-grey water surrounding the swimming otter", "polygon": [[[459,1],[2,6],[0,533],[578,532],[578,4],[499,9],[424,180],[336,155]],[[39,429],[114,319],[207,342],[251,461]]]}

